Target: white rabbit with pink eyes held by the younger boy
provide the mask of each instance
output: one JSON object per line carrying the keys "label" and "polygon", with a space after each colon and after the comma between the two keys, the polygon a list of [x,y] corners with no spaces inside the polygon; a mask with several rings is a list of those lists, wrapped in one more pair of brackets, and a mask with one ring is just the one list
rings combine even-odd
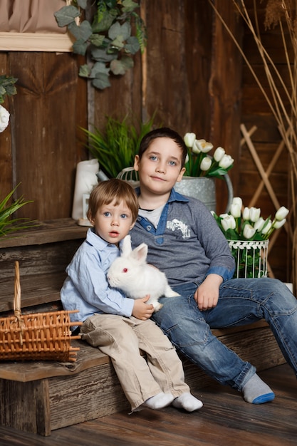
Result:
{"label": "white rabbit with pink eyes held by the younger boy", "polygon": [[147,244],[142,243],[132,250],[131,237],[123,240],[120,257],[113,261],[108,270],[110,286],[121,289],[131,299],[140,299],[150,294],[147,304],[152,304],[155,311],[162,308],[158,299],[161,296],[179,296],[168,285],[167,278],[160,269],[147,264]]}

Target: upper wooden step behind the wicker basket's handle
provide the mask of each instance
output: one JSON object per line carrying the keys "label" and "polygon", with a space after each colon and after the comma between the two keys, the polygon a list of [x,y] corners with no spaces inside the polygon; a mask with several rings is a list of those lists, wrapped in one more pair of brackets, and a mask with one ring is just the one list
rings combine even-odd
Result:
{"label": "upper wooden step behind the wicker basket's handle", "polygon": [[66,266],[85,239],[87,229],[73,219],[57,219],[41,222],[18,237],[1,237],[0,313],[13,308],[16,260],[20,266],[22,308],[59,300]]}

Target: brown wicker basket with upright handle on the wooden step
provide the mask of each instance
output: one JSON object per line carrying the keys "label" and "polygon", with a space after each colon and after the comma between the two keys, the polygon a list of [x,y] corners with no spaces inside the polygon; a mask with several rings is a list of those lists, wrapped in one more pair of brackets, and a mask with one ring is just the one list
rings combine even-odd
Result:
{"label": "brown wicker basket with upright handle on the wooden step", "polygon": [[14,316],[0,318],[0,360],[76,361],[79,348],[71,347],[73,339],[70,313],[51,311],[21,315],[19,262],[16,261],[14,281]]}

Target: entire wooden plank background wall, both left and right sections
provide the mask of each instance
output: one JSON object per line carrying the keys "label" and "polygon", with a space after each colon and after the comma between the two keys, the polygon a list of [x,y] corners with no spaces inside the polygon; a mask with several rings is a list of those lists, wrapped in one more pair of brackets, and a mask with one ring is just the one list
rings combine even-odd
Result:
{"label": "entire wooden plank background wall, both left and right sections", "polygon": [[[241,40],[244,28],[230,4],[229,0],[217,1]],[[105,115],[123,118],[127,113],[146,119],[156,111],[156,123],[182,134],[194,131],[215,147],[222,145],[235,159],[230,172],[234,194],[244,202],[252,197],[259,175],[247,148],[239,145],[239,125],[258,126],[255,143],[264,165],[279,136],[246,70],[241,84],[239,52],[207,0],[142,0],[141,12],[147,25],[145,55],[137,54],[132,71],[112,78],[111,87],[103,91],[87,87],[78,78],[82,61],[72,53],[0,51],[0,74],[19,78],[18,94],[4,104],[11,112],[11,123],[0,133],[0,193],[6,195],[21,182],[16,196],[24,194],[25,199],[34,200],[21,209],[19,217],[71,217],[75,165],[88,157],[79,127],[103,128]],[[244,45],[254,56],[249,36]],[[284,205],[286,168],[283,159],[273,173]],[[218,210],[222,212],[226,190],[219,180],[217,183]],[[256,205],[265,214],[273,212],[266,192]],[[287,256],[285,233],[275,246],[279,251],[271,264],[276,263],[276,275],[285,279],[288,259],[281,259]]]}

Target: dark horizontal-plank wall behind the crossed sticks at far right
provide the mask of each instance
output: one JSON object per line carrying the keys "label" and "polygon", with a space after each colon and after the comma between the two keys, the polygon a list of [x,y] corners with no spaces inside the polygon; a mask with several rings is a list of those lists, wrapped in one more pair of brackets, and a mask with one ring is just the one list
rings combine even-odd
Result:
{"label": "dark horizontal-plank wall behind the crossed sticks at far right", "polygon": [[[249,6],[249,12],[252,14],[254,2],[248,0],[245,3]],[[267,1],[259,2],[259,4],[257,2],[261,39],[272,60],[276,63],[278,70],[285,76],[285,53],[282,49],[279,28],[264,28],[266,3]],[[261,57],[259,56],[259,51],[256,49],[254,38],[248,30],[245,30],[244,33],[243,48],[249,62],[252,64],[257,76],[259,76],[261,84],[264,85],[266,93],[269,94],[269,84],[266,80]],[[256,148],[257,155],[261,160],[264,170],[267,170],[271,158],[278,149],[278,145],[281,143],[281,135],[278,132],[276,120],[273,118],[269,105],[267,104],[264,95],[259,90],[259,86],[256,84],[246,63],[244,63],[243,66],[241,122],[246,125],[248,130],[253,125],[256,125],[257,130],[251,136],[251,140],[254,143],[254,147]],[[269,180],[279,204],[290,209],[291,203],[288,193],[288,162],[288,152],[285,148],[281,153],[281,156],[278,158],[278,162],[276,162],[271,175],[269,175]],[[256,167],[247,145],[243,145],[239,152],[238,171],[238,190],[240,191],[241,197],[244,199],[244,203],[249,206],[249,202],[259,186],[259,182],[261,182],[261,176],[259,175],[259,170]],[[269,215],[273,217],[276,211],[266,187],[261,191],[261,195],[259,196],[259,199],[256,200],[254,206],[261,208],[264,217],[269,217]],[[271,264],[274,276],[283,281],[292,281],[292,245],[285,229],[280,229],[277,236],[275,244],[269,249],[269,263]]]}

